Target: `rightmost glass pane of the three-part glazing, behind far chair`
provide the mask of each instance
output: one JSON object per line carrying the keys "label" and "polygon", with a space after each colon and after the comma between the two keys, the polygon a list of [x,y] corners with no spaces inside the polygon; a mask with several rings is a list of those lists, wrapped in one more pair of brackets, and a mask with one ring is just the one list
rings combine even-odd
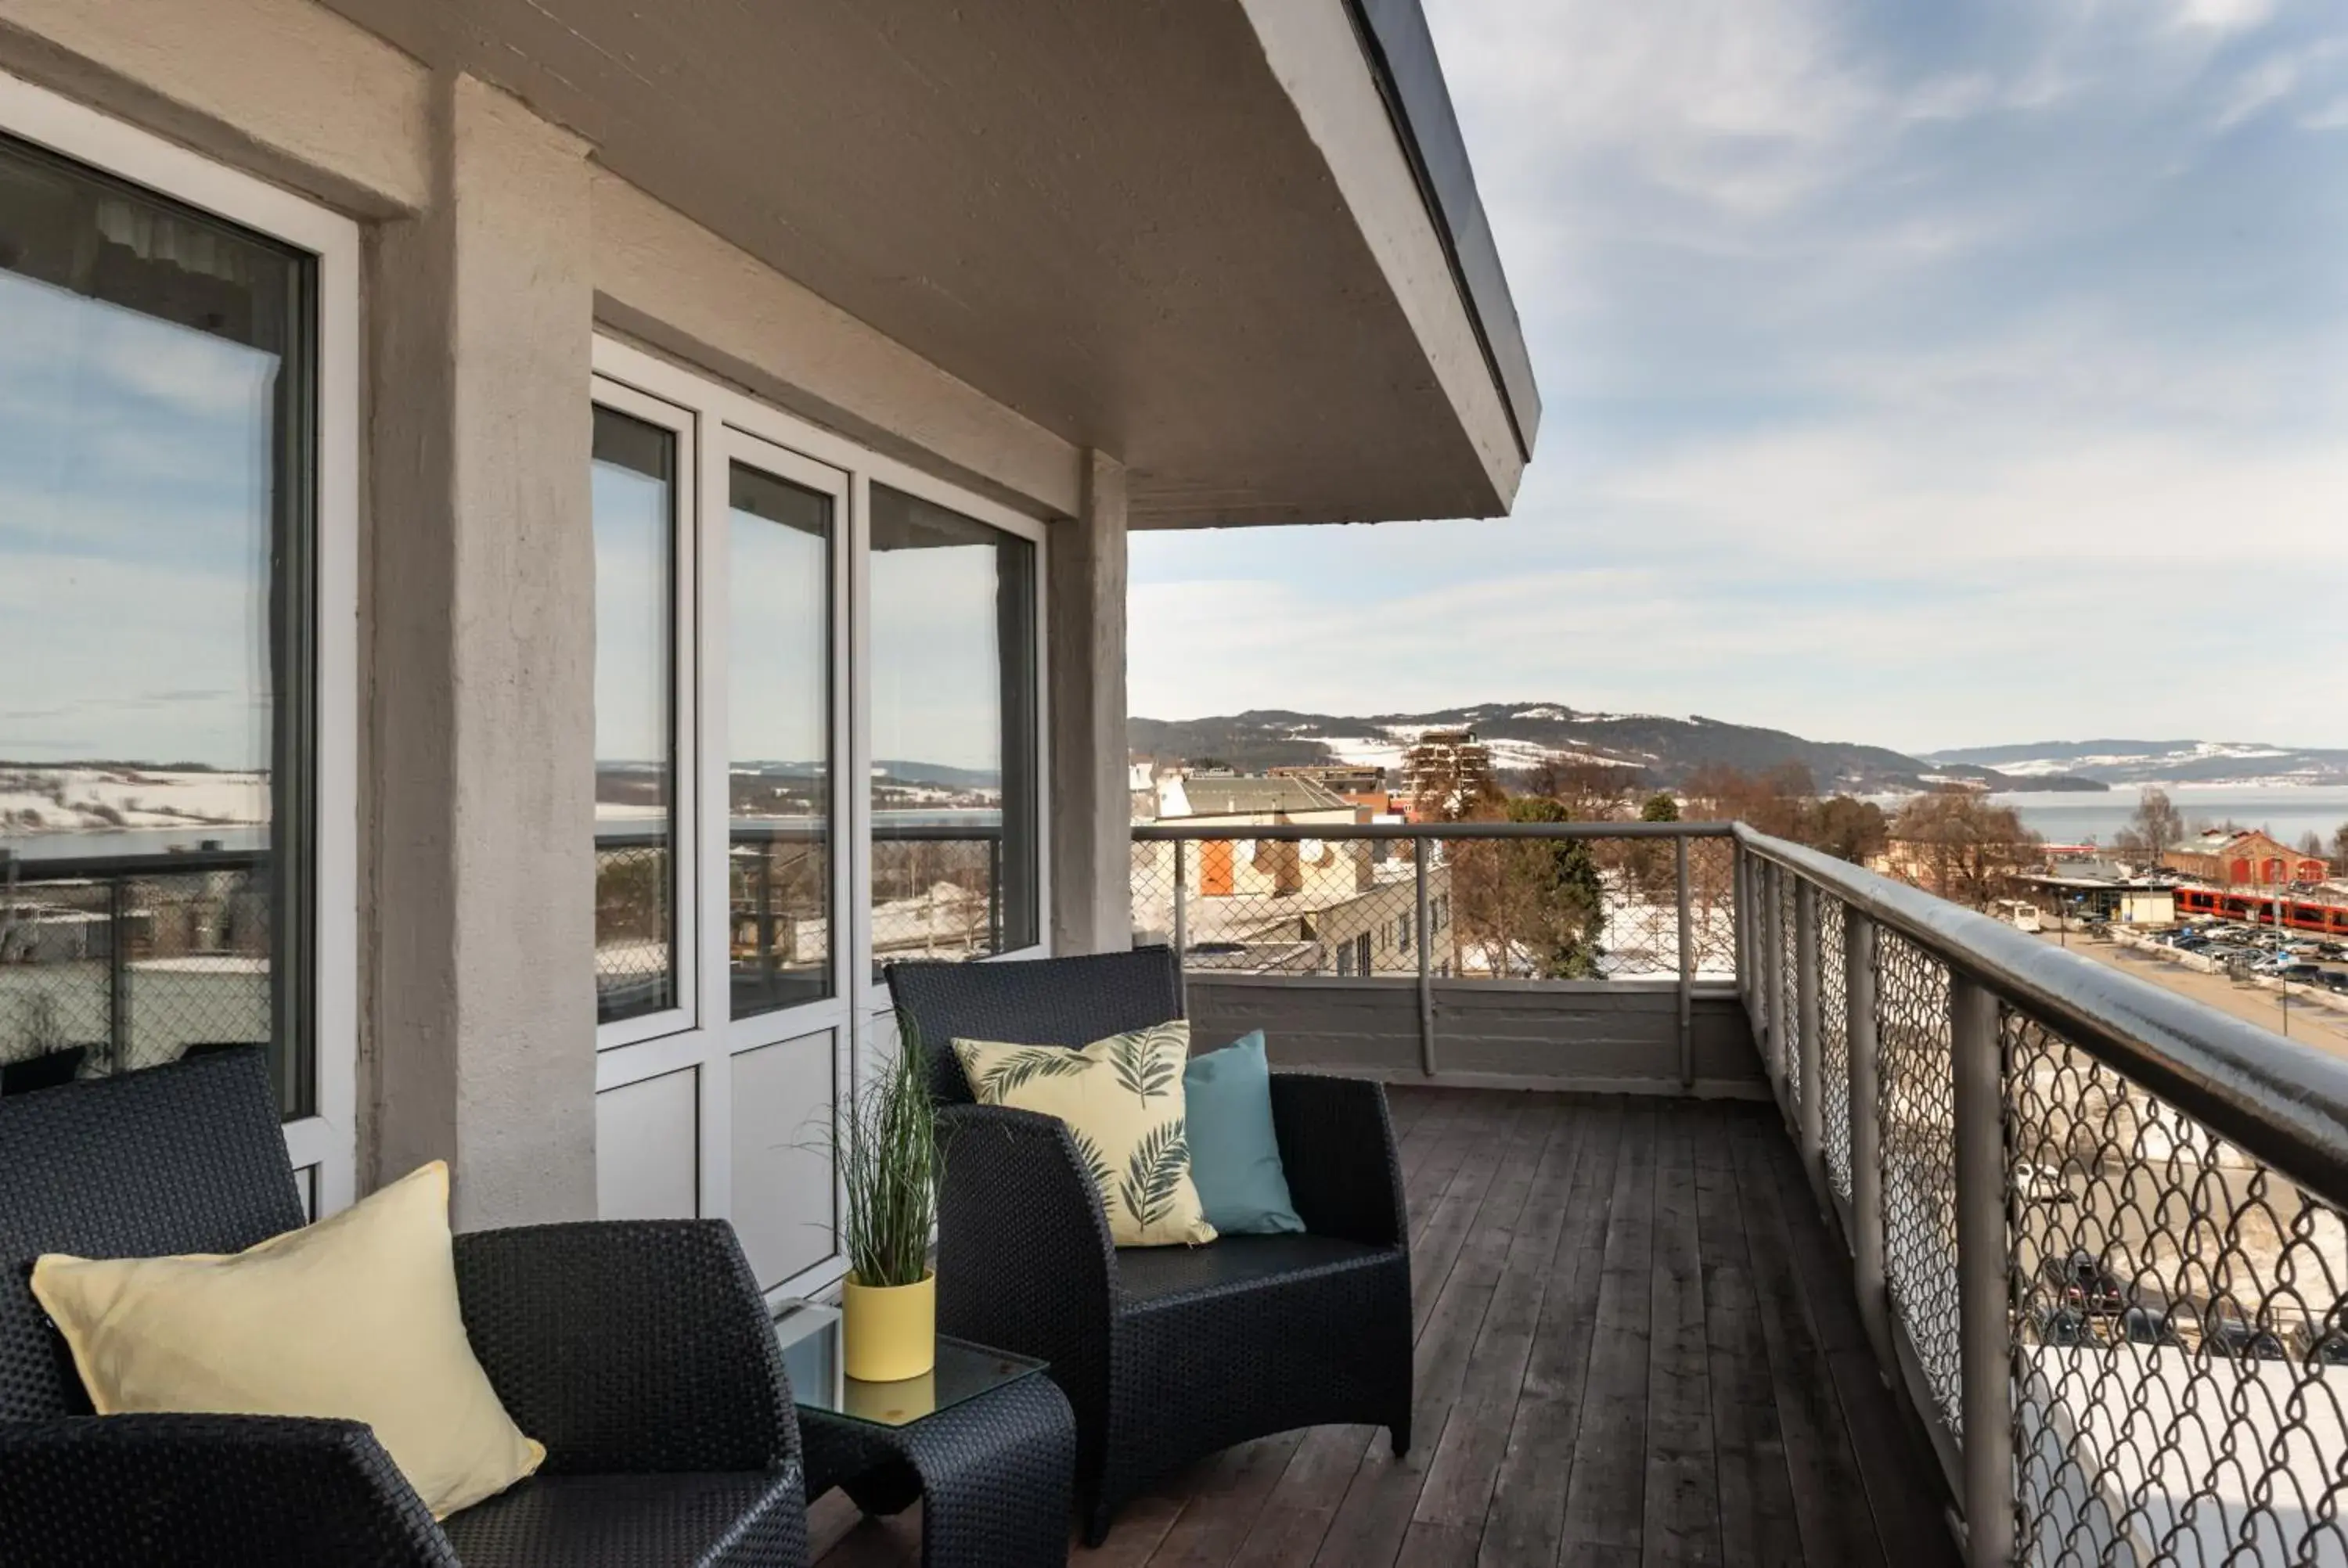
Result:
{"label": "rightmost glass pane of the three-part glazing, behind far chair", "polygon": [[871,486],[873,969],[1038,941],[1035,547]]}

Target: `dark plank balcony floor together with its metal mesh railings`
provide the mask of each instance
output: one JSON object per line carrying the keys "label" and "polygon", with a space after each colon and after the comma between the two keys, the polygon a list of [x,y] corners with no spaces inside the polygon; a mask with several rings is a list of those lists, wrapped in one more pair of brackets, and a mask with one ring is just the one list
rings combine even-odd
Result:
{"label": "dark plank balcony floor together with its metal mesh railings", "polygon": [[1432,1437],[1226,1451],[1089,1561],[2348,1563],[2341,1063],[1721,824],[1134,866],[1207,1040],[1390,1080]]}

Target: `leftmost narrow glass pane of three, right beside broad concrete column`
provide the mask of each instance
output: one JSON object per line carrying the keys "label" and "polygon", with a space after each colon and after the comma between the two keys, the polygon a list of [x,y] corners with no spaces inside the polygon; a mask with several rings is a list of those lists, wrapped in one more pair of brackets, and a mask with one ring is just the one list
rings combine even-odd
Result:
{"label": "leftmost narrow glass pane of three, right beside broad concrete column", "polygon": [[676,1007],[676,437],[594,411],[596,1019]]}

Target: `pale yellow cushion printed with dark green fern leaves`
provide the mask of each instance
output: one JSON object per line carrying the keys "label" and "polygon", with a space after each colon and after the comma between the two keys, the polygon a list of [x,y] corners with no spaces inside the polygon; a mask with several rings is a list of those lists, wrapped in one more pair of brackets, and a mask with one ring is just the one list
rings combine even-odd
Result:
{"label": "pale yellow cushion printed with dark green fern leaves", "polygon": [[1040,1110],[1068,1124],[1075,1153],[1101,1190],[1118,1246],[1214,1239],[1190,1185],[1181,1094],[1181,1070],[1190,1061],[1188,1023],[1136,1028],[1080,1052],[956,1040],[953,1054],[981,1106]]}

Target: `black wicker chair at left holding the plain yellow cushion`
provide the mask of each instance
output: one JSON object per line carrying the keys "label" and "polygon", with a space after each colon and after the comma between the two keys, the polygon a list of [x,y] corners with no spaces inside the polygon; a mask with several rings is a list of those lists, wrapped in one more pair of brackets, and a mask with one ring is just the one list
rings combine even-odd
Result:
{"label": "black wicker chair at left holding the plain yellow cushion", "polygon": [[547,1462],[444,1523],[359,1422],[89,1413],[35,1256],[237,1251],[301,1223],[258,1049],[0,1099],[0,1563],[808,1561],[791,1390],[723,1223],[456,1239],[474,1354]]}

